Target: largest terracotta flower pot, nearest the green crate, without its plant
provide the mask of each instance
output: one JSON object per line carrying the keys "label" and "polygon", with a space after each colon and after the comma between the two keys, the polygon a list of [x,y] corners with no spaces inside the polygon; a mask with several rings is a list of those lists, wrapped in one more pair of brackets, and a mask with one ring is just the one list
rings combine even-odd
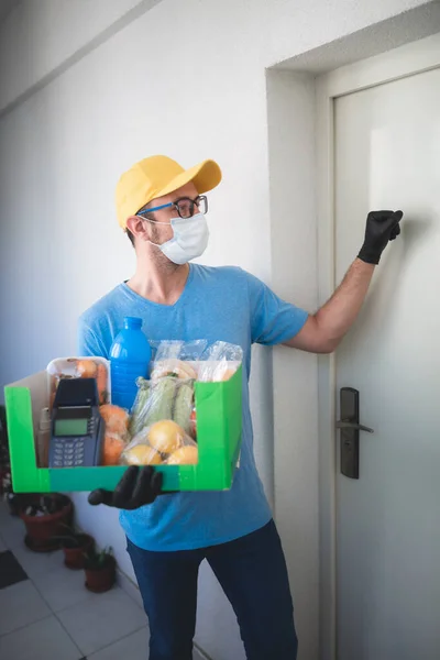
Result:
{"label": "largest terracotta flower pot, nearest the green crate, without its plant", "polygon": [[61,548],[62,541],[55,537],[63,536],[67,526],[70,526],[74,506],[68,497],[63,496],[65,504],[55,514],[44,516],[28,516],[23,509],[20,518],[26,527],[25,543],[35,552],[52,552]]}

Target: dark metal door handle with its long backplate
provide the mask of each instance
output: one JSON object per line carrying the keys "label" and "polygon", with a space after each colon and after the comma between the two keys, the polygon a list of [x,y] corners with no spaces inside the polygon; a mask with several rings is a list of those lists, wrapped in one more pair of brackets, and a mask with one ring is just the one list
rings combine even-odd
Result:
{"label": "dark metal door handle with its long backplate", "polygon": [[336,428],[341,431],[341,473],[349,479],[359,479],[361,431],[374,433],[373,429],[359,421],[359,392],[353,387],[341,387],[341,419]]}

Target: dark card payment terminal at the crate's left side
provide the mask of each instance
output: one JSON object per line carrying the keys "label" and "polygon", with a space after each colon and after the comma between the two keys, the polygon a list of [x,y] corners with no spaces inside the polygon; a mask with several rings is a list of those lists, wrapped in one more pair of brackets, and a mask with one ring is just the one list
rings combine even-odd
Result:
{"label": "dark card payment terminal at the crate's left side", "polygon": [[62,378],[52,410],[48,466],[99,465],[103,436],[96,380]]}

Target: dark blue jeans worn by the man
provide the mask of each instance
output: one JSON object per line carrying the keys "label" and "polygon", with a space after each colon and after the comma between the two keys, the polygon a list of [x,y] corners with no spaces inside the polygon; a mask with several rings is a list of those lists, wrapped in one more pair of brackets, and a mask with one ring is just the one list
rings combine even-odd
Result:
{"label": "dark blue jeans worn by the man", "polygon": [[150,660],[191,660],[197,578],[206,559],[239,622],[248,660],[296,660],[298,642],[286,561],[275,522],[245,537],[176,552],[128,540],[150,622]]}

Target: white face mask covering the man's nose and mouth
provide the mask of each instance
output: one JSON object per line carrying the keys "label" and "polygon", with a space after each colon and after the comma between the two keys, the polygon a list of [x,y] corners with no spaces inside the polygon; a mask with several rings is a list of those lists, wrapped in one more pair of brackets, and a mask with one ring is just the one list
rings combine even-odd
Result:
{"label": "white face mask covering the man's nose and mouth", "polygon": [[[155,221],[148,220],[148,222]],[[152,245],[158,248],[174,264],[182,266],[204,254],[207,249],[209,229],[202,213],[196,213],[193,218],[173,218],[170,222],[155,222],[155,224],[170,224],[173,228],[174,237],[169,241],[162,245],[156,243]]]}

